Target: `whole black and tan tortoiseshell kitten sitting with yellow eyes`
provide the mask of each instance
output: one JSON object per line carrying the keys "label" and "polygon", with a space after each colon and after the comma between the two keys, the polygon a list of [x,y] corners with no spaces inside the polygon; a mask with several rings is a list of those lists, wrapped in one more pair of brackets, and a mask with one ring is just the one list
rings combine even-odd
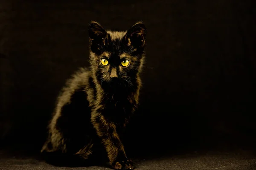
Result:
{"label": "whole black and tan tortoiseshell kitten sitting with yellow eyes", "polygon": [[75,155],[83,161],[100,161],[104,153],[113,169],[135,169],[121,136],[139,105],[145,25],[110,31],[91,21],[88,33],[90,67],[79,68],[67,80],[41,153]]}

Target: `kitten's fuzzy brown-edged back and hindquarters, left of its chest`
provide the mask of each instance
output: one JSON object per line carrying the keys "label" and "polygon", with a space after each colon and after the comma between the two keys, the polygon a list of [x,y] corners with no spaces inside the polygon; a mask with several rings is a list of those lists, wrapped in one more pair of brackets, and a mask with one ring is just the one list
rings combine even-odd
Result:
{"label": "kitten's fuzzy brown-edged back and hindquarters, left of its chest", "polygon": [[[49,136],[42,150],[47,150],[50,142],[53,150],[67,149],[62,139],[76,139],[90,125],[90,99],[88,92],[91,91],[90,72],[87,68],[79,68],[67,79],[59,93],[49,122]],[[80,138],[79,141],[84,141]],[[77,142],[76,147],[81,147]],[[48,149],[49,150],[49,149]]]}

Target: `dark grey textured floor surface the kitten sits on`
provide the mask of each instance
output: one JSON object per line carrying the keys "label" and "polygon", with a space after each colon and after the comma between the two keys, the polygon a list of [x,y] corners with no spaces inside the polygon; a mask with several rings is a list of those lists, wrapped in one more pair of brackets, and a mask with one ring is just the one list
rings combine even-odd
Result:
{"label": "dark grey textured floor surface the kitten sits on", "polygon": [[[0,153],[0,170],[108,170],[107,167],[55,167],[33,157]],[[256,156],[247,152],[185,154],[137,161],[137,170],[256,170]]]}

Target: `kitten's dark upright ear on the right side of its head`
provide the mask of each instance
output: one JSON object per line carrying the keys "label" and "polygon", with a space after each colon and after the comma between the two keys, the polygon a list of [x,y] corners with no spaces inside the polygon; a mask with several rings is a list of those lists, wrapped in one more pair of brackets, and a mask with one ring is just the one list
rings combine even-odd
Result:
{"label": "kitten's dark upright ear on the right side of its head", "polygon": [[125,43],[134,49],[142,49],[145,46],[146,27],[143,22],[134,24],[126,33]]}

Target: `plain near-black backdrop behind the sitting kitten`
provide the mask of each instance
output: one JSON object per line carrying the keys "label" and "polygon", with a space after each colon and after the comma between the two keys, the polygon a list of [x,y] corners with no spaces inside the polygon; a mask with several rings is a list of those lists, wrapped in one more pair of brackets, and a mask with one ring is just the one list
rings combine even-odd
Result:
{"label": "plain near-black backdrop behind the sitting kitten", "polygon": [[87,25],[148,28],[127,152],[254,150],[253,0],[0,0],[0,145],[38,153],[58,91],[88,66]]}

